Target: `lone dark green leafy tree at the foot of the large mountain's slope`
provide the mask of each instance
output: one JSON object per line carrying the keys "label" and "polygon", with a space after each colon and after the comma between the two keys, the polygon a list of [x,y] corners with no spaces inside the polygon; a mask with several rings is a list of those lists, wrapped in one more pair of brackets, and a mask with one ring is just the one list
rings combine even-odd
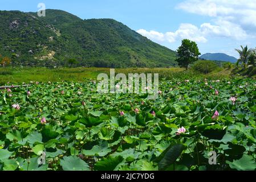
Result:
{"label": "lone dark green leafy tree at the foot of the large mountain's slope", "polygon": [[198,56],[201,55],[197,47],[196,42],[189,39],[182,40],[181,46],[177,49],[178,58],[176,61],[180,67],[188,70],[189,64],[198,60]]}

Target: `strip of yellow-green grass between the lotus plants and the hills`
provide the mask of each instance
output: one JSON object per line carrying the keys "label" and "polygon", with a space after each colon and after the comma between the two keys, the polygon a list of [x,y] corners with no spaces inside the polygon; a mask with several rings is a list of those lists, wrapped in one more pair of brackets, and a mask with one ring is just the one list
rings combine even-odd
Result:
{"label": "strip of yellow-green grass between the lotus plants and the hills", "polygon": [[[216,71],[207,75],[196,73],[192,70],[185,71],[183,68],[120,68],[115,69],[116,73],[159,73],[160,78],[170,80],[173,78],[228,78],[230,71]],[[0,68],[0,85],[7,82],[19,84],[22,82],[58,82],[58,81],[84,81],[86,79],[95,79],[99,73],[107,73],[109,68]]]}

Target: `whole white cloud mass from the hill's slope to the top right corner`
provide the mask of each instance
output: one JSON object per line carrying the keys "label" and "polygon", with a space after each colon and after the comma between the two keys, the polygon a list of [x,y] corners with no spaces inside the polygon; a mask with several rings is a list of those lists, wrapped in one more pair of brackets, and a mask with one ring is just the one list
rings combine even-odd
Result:
{"label": "whole white cloud mass from the hill's slope to the top right corner", "polygon": [[[141,35],[156,42],[176,42],[190,39],[198,43],[206,43],[210,37],[225,37],[234,40],[245,40],[254,37],[256,27],[255,0],[186,0],[176,6],[188,13],[212,17],[213,23],[203,23],[197,27],[190,23],[182,23],[173,32],[157,32],[138,30]],[[253,32],[253,33],[252,33]]]}

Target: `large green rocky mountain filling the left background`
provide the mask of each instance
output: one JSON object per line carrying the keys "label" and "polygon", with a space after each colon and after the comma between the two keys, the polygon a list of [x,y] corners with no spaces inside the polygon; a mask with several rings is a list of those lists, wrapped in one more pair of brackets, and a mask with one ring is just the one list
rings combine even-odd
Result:
{"label": "large green rocky mountain filling the left background", "polygon": [[0,11],[0,54],[22,65],[167,67],[176,52],[113,19],[80,19],[61,10]]}

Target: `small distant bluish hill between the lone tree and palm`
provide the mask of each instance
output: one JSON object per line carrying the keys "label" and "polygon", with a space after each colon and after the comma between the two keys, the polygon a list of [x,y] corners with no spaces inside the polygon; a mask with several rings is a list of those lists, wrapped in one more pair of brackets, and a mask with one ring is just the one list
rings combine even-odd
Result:
{"label": "small distant bluish hill between the lone tree and palm", "polygon": [[214,60],[214,61],[228,61],[231,63],[237,63],[235,57],[226,55],[225,53],[206,53],[200,56],[200,59]]}

